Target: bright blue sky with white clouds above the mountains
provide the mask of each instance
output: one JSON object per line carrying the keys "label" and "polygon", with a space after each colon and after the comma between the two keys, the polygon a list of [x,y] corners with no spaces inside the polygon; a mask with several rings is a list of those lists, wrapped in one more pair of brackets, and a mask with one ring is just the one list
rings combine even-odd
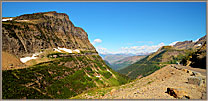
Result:
{"label": "bright blue sky with white clouds above the mountains", "polygon": [[102,54],[144,54],[206,35],[206,2],[2,2],[2,16],[56,11]]}

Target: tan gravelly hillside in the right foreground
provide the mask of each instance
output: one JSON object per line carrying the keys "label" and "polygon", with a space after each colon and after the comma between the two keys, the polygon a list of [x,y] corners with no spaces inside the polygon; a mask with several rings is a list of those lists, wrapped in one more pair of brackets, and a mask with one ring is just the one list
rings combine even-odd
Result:
{"label": "tan gravelly hillside in the right foreground", "polygon": [[[178,66],[184,68],[184,66]],[[206,71],[206,70],[205,70]],[[137,79],[126,85],[111,88],[104,95],[96,94],[88,96],[82,94],[79,98],[86,99],[177,99],[170,96],[167,88],[179,88],[190,99],[206,99],[206,82],[201,86],[189,84],[188,78],[193,77],[185,69],[176,69],[174,65],[168,65],[153,74]],[[203,76],[205,77],[205,76]],[[206,77],[204,78],[206,79]]]}

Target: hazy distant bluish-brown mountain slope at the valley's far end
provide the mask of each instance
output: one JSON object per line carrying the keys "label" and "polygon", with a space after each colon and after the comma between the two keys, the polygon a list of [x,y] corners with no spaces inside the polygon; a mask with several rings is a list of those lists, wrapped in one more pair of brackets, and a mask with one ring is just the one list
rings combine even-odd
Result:
{"label": "hazy distant bluish-brown mountain slope at the valley's far end", "polygon": [[111,63],[111,68],[113,70],[120,70],[120,69],[123,69],[139,60],[141,60],[142,58],[144,58],[145,56],[129,56],[129,57],[125,57],[121,60],[118,60],[118,61],[115,61],[113,63]]}

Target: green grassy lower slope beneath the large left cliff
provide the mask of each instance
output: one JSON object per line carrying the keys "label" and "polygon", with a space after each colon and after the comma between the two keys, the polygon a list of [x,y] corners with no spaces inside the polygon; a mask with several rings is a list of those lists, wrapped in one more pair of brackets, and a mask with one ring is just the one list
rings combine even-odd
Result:
{"label": "green grassy lower slope beneath the large left cliff", "polygon": [[[71,56],[56,58],[54,61],[40,63],[30,68],[3,71],[3,99],[65,99],[98,85],[114,86],[127,82],[126,77],[112,71],[100,59],[98,55]],[[70,68],[63,65],[70,61],[82,65]],[[96,71],[92,68],[97,68],[102,80],[94,76]],[[113,74],[109,74],[106,69]]]}

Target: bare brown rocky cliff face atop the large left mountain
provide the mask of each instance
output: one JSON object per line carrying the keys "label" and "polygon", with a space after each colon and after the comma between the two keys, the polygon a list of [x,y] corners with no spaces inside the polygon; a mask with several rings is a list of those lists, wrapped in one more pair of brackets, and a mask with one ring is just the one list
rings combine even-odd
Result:
{"label": "bare brown rocky cliff face atop the large left mountain", "polygon": [[25,14],[3,21],[2,45],[3,51],[17,57],[57,47],[96,52],[87,33],[75,27],[66,14],[57,12]]}

